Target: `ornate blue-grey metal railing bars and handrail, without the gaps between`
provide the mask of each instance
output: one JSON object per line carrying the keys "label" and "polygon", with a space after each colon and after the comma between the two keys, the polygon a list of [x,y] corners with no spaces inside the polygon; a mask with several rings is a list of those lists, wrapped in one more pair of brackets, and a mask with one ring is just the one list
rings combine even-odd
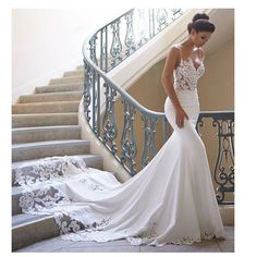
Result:
{"label": "ornate blue-grey metal railing bars and handrail, without the gaps between", "polygon": [[[179,9],[172,9],[172,12],[175,14],[182,15],[182,11]],[[135,44],[133,34],[133,15],[135,13],[135,9],[131,9],[124,14],[120,15],[112,22],[99,28],[93,35],[89,35],[84,44],[83,44],[83,60],[84,60],[84,112],[86,117],[86,121],[91,128],[91,131],[96,134],[98,139],[107,147],[107,149],[113,155],[113,157],[124,167],[124,169],[131,174],[135,175],[138,171],[136,166],[138,166],[136,161],[137,155],[137,145],[138,142],[135,138],[134,123],[135,123],[135,113],[142,114],[142,121],[144,125],[142,126],[142,132],[144,133],[144,143],[143,143],[143,151],[140,158],[140,169],[148,164],[151,158],[157,154],[155,146],[155,136],[157,123],[161,121],[162,123],[162,133],[163,143],[168,139],[168,125],[169,122],[163,112],[156,112],[148,110],[144,106],[142,106],[138,101],[136,101],[130,94],[127,94],[122,87],[118,86],[111,78],[108,77],[107,73],[119,65],[125,58],[136,52],[136,50],[147,44],[148,39],[144,42],[139,41],[138,45]],[[164,29],[169,24],[168,20],[168,11],[166,9],[158,9],[158,15],[154,16],[154,11],[148,9],[149,13],[149,39],[151,39],[155,35],[157,35],[160,30]],[[151,15],[150,15],[151,14]],[[164,28],[162,27],[159,32],[155,32],[155,19],[158,16],[158,23],[160,22],[162,25],[164,24]],[[126,37],[125,44],[122,45],[120,40],[119,34],[119,24],[121,20],[126,20]],[[174,19],[175,20],[175,19]],[[172,22],[174,20],[171,20]],[[151,25],[150,25],[151,24]],[[154,25],[152,25],[154,24]],[[109,49],[108,41],[108,29],[111,26],[112,28],[112,44]],[[151,30],[151,32],[150,32]],[[127,37],[131,35],[131,37]],[[97,52],[97,39],[99,37],[99,54]],[[122,52],[122,46],[126,46],[125,53]],[[109,54],[110,50],[110,54]],[[97,54],[99,57],[97,57]],[[112,60],[111,65],[109,65],[109,58]],[[99,64],[100,62],[100,64]],[[103,93],[103,88],[106,88]],[[118,130],[117,120],[115,120],[115,101],[118,99],[118,94],[122,99],[123,105],[123,130]],[[105,96],[106,97],[105,97]],[[101,122],[101,97],[106,98],[105,105],[105,115]],[[233,155],[234,155],[234,145],[233,145],[233,124],[234,124],[234,112],[233,111],[205,111],[200,112],[198,121],[197,121],[197,132],[200,126],[204,125],[204,119],[212,119],[213,126],[218,126],[219,133],[219,152],[217,158],[217,164],[215,169],[215,179],[219,187],[217,192],[217,199],[220,204],[228,204],[224,201],[224,194],[228,192],[233,192],[233,179],[234,179],[234,170],[233,164],[232,168],[228,168],[231,172],[229,179],[228,174],[220,170],[221,156],[223,151],[229,152],[228,149],[222,149],[222,140],[230,142],[232,147],[232,163],[233,163]],[[220,122],[228,123],[229,133],[223,133],[222,127],[220,126]],[[135,123],[135,125],[137,125]],[[101,132],[102,130],[102,132]],[[118,133],[122,133],[121,137],[121,152],[118,150]],[[228,140],[228,138],[230,138]],[[151,154],[151,158],[149,157]],[[225,179],[224,179],[225,176]],[[225,180],[225,183],[224,183]],[[230,184],[230,186],[228,186]],[[233,188],[232,188],[233,187]],[[233,204],[230,201],[229,204]]]}

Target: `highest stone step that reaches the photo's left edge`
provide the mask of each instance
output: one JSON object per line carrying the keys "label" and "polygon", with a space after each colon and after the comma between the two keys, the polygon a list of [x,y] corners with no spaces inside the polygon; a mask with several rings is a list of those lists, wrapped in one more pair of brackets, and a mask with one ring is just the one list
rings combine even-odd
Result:
{"label": "highest stone step that reaches the photo's left edge", "polygon": [[79,101],[29,102],[12,105],[13,114],[78,112]]}

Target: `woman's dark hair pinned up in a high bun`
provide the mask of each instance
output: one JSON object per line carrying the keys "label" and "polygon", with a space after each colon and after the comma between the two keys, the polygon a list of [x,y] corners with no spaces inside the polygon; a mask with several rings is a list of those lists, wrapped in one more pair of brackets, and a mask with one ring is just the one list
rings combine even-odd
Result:
{"label": "woman's dark hair pinned up in a high bun", "polygon": [[196,13],[192,19],[192,22],[187,25],[187,30],[191,34],[192,28],[198,32],[213,33],[216,27],[209,21],[209,16],[206,13]]}

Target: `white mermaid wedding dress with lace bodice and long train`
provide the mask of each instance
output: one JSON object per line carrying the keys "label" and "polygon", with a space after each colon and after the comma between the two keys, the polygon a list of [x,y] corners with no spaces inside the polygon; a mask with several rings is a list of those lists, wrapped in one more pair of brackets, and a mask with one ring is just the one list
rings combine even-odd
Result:
{"label": "white mermaid wedding dress with lace bodice and long train", "polygon": [[204,72],[203,62],[195,68],[191,58],[181,59],[174,88],[189,119],[179,128],[167,97],[164,113],[174,131],[136,175],[120,183],[78,157],[46,158],[30,171],[15,172],[22,211],[54,213],[63,240],[162,246],[224,238],[206,148],[195,130],[197,79]]}

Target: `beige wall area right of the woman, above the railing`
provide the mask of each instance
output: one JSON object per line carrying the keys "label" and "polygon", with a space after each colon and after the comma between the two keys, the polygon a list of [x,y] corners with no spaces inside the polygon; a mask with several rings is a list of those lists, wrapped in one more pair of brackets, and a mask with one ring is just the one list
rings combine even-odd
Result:
{"label": "beige wall area right of the woman, above the railing", "polygon": [[234,110],[234,39],[208,56],[205,66],[198,81],[200,109]]}

